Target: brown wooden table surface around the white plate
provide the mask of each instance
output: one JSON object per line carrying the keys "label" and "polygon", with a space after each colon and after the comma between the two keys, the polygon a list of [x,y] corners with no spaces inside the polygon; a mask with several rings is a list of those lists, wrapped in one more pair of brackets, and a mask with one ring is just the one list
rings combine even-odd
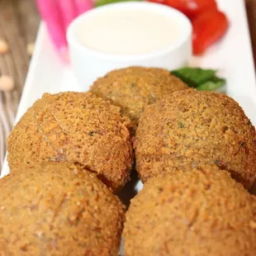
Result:
{"label": "brown wooden table surface around the white plate", "polygon": [[[246,0],[246,7],[256,63],[256,0]],[[0,170],[30,63],[26,45],[35,41],[39,22],[35,0],[0,0],[0,38],[10,46],[9,53],[0,55],[0,75],[15,81],[11,92],[0,92]]]}

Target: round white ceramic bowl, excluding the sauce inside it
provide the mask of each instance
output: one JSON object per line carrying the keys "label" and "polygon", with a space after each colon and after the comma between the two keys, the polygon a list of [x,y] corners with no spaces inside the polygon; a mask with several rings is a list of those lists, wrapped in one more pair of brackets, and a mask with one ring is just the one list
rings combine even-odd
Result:
{"label": "round white ceramic bowl, excluding the sauce inside it", "polygon": [[[163,50],[153,51],[149,54],[116,55],[92,50],[79,41],[77,36],[78,29],[95,15],[109,12],[111,9],[123,11],[127,10],[127,8],[136,11],[141,10],[142,12],[149,10],[177,20],[179,27],[182,28],[177,42],[175,44],[172,43]],[[161,28],[159,27],[159,29]],[[172,31],[165,32],[171,33]],[[113,69],[138,65],[172,70],[187,65],[192,56],[192,26],[190,21],[182,12],[152,2],[118,2],[94,8],[79,16],[70,24],[67,39],[73,72],[78,78],[79,85],[83,88],[88,87],[97,78],[102,77]]]}

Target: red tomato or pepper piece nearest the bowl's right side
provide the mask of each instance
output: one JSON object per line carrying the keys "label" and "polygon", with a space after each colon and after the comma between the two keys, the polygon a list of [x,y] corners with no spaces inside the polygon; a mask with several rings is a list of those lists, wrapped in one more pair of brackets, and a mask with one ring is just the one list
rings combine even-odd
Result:
{"label": "red tomato or pepper piece nearest the bowl's right side", "polygon": [[225,35],[229,21],[225,13],[218,10],[202,12],[192,21],[193,53],[201,55],[205,50]]}

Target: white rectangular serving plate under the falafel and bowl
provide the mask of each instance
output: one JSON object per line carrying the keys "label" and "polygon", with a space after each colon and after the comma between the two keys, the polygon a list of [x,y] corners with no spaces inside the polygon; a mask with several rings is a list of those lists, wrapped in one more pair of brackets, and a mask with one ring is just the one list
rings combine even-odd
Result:
{"label": "white rectangular serving plate under the falafel and bowl", "polygon": [[[219,7],[229,20],[225,38],[213,45],[202,57],[192,59],[192,66],[219,69],[227,79],[226,92],[234,97],[256,126],[256,83],[254,59],[249,38],[249,27],[244,0],[218,0]],[[86,70],[85,70],[86,72]],[[63,64],[50,42],[44,23],[41,23],[36,48],[17,112],[21,116],[44,92],[82,92],[68,64]],[[2,176],[9,173],[7,160]]]}

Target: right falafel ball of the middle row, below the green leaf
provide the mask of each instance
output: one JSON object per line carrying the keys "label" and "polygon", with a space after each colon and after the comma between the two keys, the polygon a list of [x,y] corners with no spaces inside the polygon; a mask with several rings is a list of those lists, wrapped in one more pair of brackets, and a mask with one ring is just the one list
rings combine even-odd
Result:
{"label": "right falafel ball of the middle row, below the green leaf", "polygon": [[199,164],[229,171],[245,187],[256,177],[255,128],[238,103],[215,92],[173,92],[141,116],[134,141],[140,178]]}

